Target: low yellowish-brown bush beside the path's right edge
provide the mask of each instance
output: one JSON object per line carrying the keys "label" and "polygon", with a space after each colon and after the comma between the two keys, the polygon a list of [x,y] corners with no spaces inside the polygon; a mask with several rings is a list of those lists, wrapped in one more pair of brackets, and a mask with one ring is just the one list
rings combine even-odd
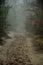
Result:
{"label": "low yellowish-brown bush beside the path's right edge", "polygon": [[36,36],[33,38],[33,43],[37,48],[43,49],[43,38]]}

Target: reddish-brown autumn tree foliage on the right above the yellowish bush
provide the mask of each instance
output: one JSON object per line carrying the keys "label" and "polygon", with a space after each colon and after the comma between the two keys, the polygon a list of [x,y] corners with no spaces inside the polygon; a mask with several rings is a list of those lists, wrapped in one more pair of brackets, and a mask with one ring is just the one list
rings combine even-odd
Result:
{"label": "reddish-brown autumn tree foliage on the right above the yellowish bush", "polygon": [[33,29],[34,34],[39,35],[40,37],[43,37],[43,7],[42,7],[42,0],[39,0],[36,2],[36,4],[33,4],[33,10],[34,16],[30,18],[32,21],[34,21]]}

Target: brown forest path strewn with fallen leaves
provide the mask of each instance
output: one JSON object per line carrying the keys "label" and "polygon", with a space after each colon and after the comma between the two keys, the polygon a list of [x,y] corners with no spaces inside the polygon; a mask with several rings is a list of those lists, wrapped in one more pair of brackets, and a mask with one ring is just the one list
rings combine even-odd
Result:
{"label": "brown forest path strewn with fallen leaves", "polygon": [[2,46],[0,59],[5,62],[13,62],[14,65],[43,65],[43,53],[35,51],[32,38],[25,33],[10,33],[11,39]]}

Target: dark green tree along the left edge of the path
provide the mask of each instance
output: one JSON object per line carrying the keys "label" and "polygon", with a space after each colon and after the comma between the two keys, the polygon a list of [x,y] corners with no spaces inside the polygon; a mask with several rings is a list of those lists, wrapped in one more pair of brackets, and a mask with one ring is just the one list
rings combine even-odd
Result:
{"label": "dark green tree along the left edge of the path", "polygon": [[[1,0],[0,0],[1,1]],[[0,44],[2,44],[3,37],[8,37],[6,31],[8,27],[8,21],[6,21],[6,17],[8,14],[9,7],[3,4],[0,5]]]}

